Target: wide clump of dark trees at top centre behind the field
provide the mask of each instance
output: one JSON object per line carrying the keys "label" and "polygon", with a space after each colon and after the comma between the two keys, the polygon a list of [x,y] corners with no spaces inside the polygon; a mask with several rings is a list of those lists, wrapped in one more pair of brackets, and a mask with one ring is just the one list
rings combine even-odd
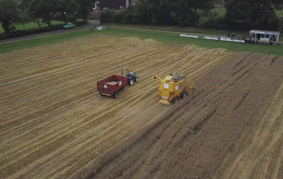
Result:
{"label": "wide clump of dark trees at top centre behind the field", "polygon": [[199,12],[212,8],[212,0],[140,0],[128,11],[137,24],[193,26]]}

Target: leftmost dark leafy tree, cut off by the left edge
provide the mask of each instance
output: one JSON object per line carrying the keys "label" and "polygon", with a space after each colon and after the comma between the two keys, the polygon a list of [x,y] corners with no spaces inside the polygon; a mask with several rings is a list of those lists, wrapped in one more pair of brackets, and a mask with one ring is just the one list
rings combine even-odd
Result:
{"label": "leftmost dark leafy tree, cut off by the left edge", "polygon": [[0,22],[5,32],[12,32],[20,23],[20,11],[14,0],[0,0]]}

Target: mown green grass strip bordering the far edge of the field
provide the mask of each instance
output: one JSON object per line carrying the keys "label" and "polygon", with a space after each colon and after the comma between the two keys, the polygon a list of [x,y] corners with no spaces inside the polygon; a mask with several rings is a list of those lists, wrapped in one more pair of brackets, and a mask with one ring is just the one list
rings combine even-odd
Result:
{"label": "mown green grass strip bordering the far edge of the field", "polygon": [[180,37],[179,34],[166,33],[166,32],[153,32],[145,30],[132,30],[132,29],[121,29],[121,28],[111,28],[102,31],[89,32],[88,29],[79,30],[75,32],[69,32],[64,34],[57,34],[53,36],[44,36],[40,38],[28,39],[24,41],[12,42],[8,44],[0,45],[0,53],[9,52],[13,50],[19,50],[22,48],[29,48],[34,46],[39,46],[43,44],[51,44],[66,40],[71,40],[74,38],[82,36],[92,36],[92,35],[111,35],[119,37],[137,37],[141,39],[154,39],[159,42],[166,43],[175,43],[183,45],[196,45],[206,48],[222,48],[226,50],[235,50],[235,51],[248,51],[263,53],[269,55],[278,55],[283,56],[282,46],[270,46],[270,45],[255,45],[255,44],[242,44],[236,42],[223,42],[216,40],[207,40],[200,38],[186,38]]}

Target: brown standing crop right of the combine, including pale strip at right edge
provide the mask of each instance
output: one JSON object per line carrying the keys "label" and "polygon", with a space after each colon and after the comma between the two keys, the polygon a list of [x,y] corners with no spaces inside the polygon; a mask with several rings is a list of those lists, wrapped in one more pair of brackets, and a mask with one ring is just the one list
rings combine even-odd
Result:
{"label": "brown standing crop right of the combine, including pale strip at right edge", "polygon": [[196,84],[191,96],[138,133],[137,142],[85,173],[103,179],[282,178],[283,58],[239,52]]}

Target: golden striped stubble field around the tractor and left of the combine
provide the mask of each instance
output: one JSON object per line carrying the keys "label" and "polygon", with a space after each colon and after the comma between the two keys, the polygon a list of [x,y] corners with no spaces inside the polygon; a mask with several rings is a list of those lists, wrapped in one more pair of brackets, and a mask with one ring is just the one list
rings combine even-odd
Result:
{"label": "golden striped stubble field around the tractor and left of the combine", "polygon": [[[111,36],[0,54],[1,178],[72,178],[169,108],[157,103],[154,75],[195,80],[233,56]],[[124,67],[139,81],[101,97],[96,82]]]}

